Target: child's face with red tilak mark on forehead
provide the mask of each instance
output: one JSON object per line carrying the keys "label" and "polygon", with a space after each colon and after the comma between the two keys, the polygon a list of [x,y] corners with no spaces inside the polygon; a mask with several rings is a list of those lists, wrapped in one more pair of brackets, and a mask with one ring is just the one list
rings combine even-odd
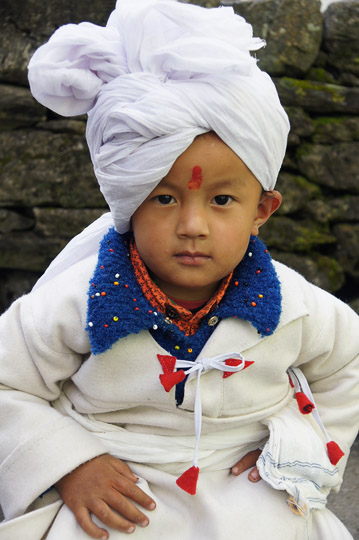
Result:
{"label": "child's face with red tilak mark on forehead", "polygon": [[197,137],[132,217],[137,249],[168,296],[206,300],[279,207],[215,134]]}

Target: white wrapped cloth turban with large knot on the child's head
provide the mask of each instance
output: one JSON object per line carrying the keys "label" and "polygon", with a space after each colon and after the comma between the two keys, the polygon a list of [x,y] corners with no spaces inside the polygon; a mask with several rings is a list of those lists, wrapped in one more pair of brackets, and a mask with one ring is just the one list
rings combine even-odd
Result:
{"label": "white wrapped cloth turban with large knot on the child's head", "polygon": [[265,190],[274,188],[289,122],[250,51],[263,46],[230,7],[118,0],[106,27],[65,25],[29,64],[34,97],[88,113],[87,142],[116,230],[174,161],[214,131]]}

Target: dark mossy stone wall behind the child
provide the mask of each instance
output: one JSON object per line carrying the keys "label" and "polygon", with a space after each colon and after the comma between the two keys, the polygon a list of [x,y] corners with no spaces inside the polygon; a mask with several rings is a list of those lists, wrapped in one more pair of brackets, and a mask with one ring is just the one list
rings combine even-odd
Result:
{"label": "dark mossy stone wall behind the child", "polygon": [[[134,0],[135,1],[135,0]],[[200,1],[233,5],[266,39],[257,56],[291,121],[284,196],[262,237],[279,260],[359,306],[359,3]],[[27,86],[32,52],[61,24],[104,24],[115,0],[0,5],[0,312],[29,290],[67,241],[106,211],[84,139]]]}

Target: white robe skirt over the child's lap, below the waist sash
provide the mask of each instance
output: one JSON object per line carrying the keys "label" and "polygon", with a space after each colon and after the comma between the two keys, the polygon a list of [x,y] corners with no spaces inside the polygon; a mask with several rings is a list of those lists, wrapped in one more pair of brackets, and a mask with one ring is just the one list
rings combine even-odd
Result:
{"label": "white robe skirt over the child's lap, below the waist sash", "polygon": [[[246,475],[236,478],[225,470],[204,472],[198,494],[191,497],[182,490],[173,490],[175,478],[168,473],[145,466],[137,466],[134,471],[140,477],[139,487],[157,502],[154,512],[145,511],[149,526],[137,527],[131,535],[135,540],[352,540],[347,531],[343,536],[335,536],[340,522],[327,510],[323,521],[329,534],[309,536],[306,521],[288,510],[283,492],[273,490],[265,482],[252,484]],[[90,540],[66,505],[60,511],[55,505],[0,524],[1,540],[40,540],[41,536],[32,534],[33,522],[41,519],[46,528],[54,517],[46,540]],[[41,511],[47,515],[38,516]],[[103,527],[98,519],[94,521]],[[109,533],[111,540],[128,538],[128,534],[112,528]]]}

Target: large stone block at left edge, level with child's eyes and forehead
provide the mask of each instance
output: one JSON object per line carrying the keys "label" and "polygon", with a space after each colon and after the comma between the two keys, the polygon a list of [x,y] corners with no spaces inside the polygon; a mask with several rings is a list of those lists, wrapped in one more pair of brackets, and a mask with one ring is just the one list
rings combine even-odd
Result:
{"label": "large stone block at left edge, level with child's eyes and forehead", "polygon": [[106,208],[84,137],[0,132],[2,206]]}

